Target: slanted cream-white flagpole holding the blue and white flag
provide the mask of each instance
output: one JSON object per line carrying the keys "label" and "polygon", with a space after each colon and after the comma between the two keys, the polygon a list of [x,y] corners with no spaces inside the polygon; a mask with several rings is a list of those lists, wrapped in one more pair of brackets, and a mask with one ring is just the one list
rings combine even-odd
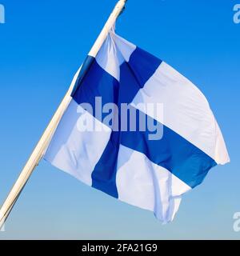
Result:
{"label": "slanted cream-white flagpole holding the blue and white flag", "polygon": [[[110,14],[105,26],[102,29],[102,32],[99,34],[96,42],[94,42],[94,46],[90,50],[89,55],[92,57],[96,57],[98,51],[100,50],[103,42],[105,41],[107,34],[109,33],[110,29],[114,26],[119,14],[122,13],[124,6],[126,4],[126,0],[120,0],[114,7],[113,12]],[[70,84],[69,90],[66,92],[65,97],[62,99],[61,104],[58,106],[58,110],[55,112],[53,118],[51,119],[49,125],[46,127],[45,132],[42,134],[42,138],[40,138],[37,146],[35,147],[33,153],[30,155],[30,158],[26,162],[26,166],[23,168],[21,174],[19,175],[17,181],[15,182],[13,188],[10,190],[10,194],[7,196],[6,201],[3,203],[2,208],[0,210],[0,229],[6,218],[10,214],[14,203],[17,201],[19,195],[21,194],[22,189],[26,185],[26,182],[30,178],[30,175],[33,173],[36,166],[42,159],[47,146],[50,143],[52,136],[60,122],[62,115],[66,111],[66,108],[69,106],[70,101],[72,99],[71,94],[74,89],[74,85],[78,79],[78,74],[80,71],[84,69],[84,66],[81,66],[78,72],[74,75],[74,79]],[[81,74],[80,74],[81,75]]]}

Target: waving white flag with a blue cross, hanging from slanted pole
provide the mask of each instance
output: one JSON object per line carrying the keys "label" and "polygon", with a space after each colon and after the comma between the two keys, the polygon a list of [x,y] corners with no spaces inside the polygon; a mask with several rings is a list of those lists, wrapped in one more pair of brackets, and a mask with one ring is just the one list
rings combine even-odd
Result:
{"label": "waving white flag with a blue cross, hanging from slanted pole", "polygon": [[[113,30],[89,58],[45,159],[122,202],[154,211],[162,222],[172,221],[182,194],[210,168],[230,161],[209,103],[182,74]],[[109,103],[115,106],[111,113]],[[123,130],[122,103],[139,114],[137,126],[140,116],[161,126],[161,138],[151,139],[152,130],[139,127]],[[146,107],[157,104],[157,114]],[[103,122],[107,114],[111,121]]]}

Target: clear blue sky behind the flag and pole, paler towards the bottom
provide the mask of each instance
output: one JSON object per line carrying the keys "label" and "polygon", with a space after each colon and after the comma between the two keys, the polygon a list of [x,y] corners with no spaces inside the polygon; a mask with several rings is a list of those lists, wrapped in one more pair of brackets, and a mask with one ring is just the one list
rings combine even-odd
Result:
{"label": "clear blue sky behind the flag and pole, paler towards the bottom", "polygon": [[[0,0],[0,204],[115,0]],[[117,33],[190,78],[208,98],[231,163],[183,196],[173,223],[88,187],[42,161],[0,239],[234,238],[240,211],[240,0],[129,0]]]}

